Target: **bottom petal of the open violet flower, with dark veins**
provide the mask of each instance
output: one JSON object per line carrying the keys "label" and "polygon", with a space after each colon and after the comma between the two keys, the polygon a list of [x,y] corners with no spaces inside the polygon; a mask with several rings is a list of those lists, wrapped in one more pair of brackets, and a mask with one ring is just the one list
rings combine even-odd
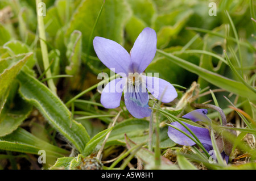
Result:
{"label": "bottom petal of the open violet flower, with dark veins", "polygon": [[125,105],[127,110],[136,118],[148,117],[151,110],[148,106],[147,92],[125,92]]}

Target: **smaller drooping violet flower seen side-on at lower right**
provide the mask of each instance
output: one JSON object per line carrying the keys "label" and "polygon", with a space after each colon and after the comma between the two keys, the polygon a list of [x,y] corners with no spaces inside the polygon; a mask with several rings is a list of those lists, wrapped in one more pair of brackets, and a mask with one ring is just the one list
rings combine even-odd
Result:
{"label": "smaller drooping violet flower seen side-on at lower right", "polygon": [[[191,119],[192,121],[204,121],[208,122],[210,121],[209,117],[207,117],[208,111],[206,109],[199,109],[195,110],[192,112],[187,113],[186,115],[182,116],[187,119]],[[184,122],[183,122],[184,123]],[[212,146],[212,141],[210,138],[210,133],[207,128],[200,128],[200,127],[195,127],[193,125],[184,123],[194,134],[197,138],[199,138],[200,142],[203,144],[204,148],[209,152],[210,150],[213,150]],[[192,136],[189,131],[183,127],[178,122],[171,123],[176,128],[181,129],[181,131],[184,131],[185,133],[189,134]],[[179,145],[186,145],[186,146],[193,146],[196,143],[191,140],[191,138],[187,137],[185,134],[181,133],[180,131],[177,131],[177,129],[168,127],[168,132],[167,132],[169,138],[176,142],[176,144]],[[193,136],[192,136],[193,137]],[[218,146],[218,149],[220,150],[220,153],[222,155],[222,158],[225,159],[226,163],[228,163],[229,160],[229,155],[227,155],[224,151],[224,147],[221,144],[222,140],[216,140],[216,144]]]}

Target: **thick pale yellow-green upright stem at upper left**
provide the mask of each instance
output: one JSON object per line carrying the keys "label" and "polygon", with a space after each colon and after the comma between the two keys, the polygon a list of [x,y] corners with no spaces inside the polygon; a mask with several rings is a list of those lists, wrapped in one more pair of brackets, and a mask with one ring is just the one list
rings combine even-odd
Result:
{"label": "thick pale yellow-green upright stem at upper left", "polygon": [[[43,40],[46,40],[46,31],[44,30],[44,19],[43,16],[39,15],[39,3],[42,3],[42,0],[36,0],[36,11],[38,16],[38,31],[40,37],[40,45],[43,57],[44,69],[46,70],[49,67],[49,58],[48,58],[48,49],[46,43]],[[51,70],[46,71],[46,78],[52,77]],[[47,80],[49,89],[56,94],[56,87],[54,85],[53,79]]]}

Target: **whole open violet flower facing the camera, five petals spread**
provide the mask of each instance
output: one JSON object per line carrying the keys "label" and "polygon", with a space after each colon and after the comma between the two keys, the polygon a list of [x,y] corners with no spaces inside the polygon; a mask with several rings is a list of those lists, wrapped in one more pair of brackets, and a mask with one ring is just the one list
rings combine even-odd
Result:
{"label": "whole open violet flower facing the camera, five petals spread", "polygon": [[122,77],[110,81],[102,91],[101,104],[105,108],[118,107],[124,91],[127,110],[134,117],[143,118],[151,114],[147,90],[164,103],[177,97],[171,83],[143,74],[156,53],[156,33],[151,28],[144,28],[139,34],[130,54],[115,41],[104,37],[95,37],[93,47],[101,62]]}

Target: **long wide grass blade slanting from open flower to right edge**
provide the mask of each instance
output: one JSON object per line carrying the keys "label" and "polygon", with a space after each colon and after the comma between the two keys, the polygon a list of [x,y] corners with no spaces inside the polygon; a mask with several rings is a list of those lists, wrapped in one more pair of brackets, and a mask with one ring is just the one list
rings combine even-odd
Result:
{"label": "long wide grass blade slanting from open flower to right edge", "polygon": [[256,100],[256,94],[254,94],[253,91],[248,89],[241,82],[234,81],[232,79],[223,77],[222,75],[213,73],[212,71],[200,68],[195,64],[185,61],[172,54],[166,53],[162,50],[157,50],[157,52],[162,56],[168,58],[170,62],[199,75],[201,78],[205,79],[206,81],[212,83],[215,86],[221,87],[222,89],[233,92],[234,94],[243,96],[245,98],[249,98],[250,100]]}

